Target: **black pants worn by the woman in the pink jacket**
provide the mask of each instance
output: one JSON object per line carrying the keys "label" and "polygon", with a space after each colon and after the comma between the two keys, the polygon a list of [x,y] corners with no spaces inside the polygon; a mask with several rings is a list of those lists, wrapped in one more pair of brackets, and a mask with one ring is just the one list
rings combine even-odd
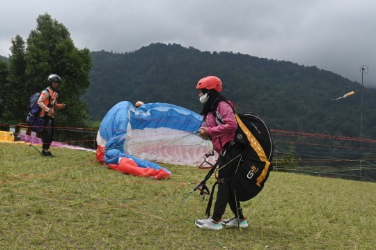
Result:
{"label": "black pants worn by the woman in the pink jacket", "polygon": [[226,153],[219,158],[218,178],[224,179],[225,181],[218,185],[217,200],[215,201],[213,212],[213,219],[215,220],[222,218],[227,204],[230,205],[230,209],[233,211],[233,214],[235,214],[235,217],[244,219],[242,208],[240,208],[240,201],[236,200],[230,182],[230,177],[235,175],[237,166],[240,164],[241,154],[244,152],[244,148],[244,145],[235,143],[228,146]]}

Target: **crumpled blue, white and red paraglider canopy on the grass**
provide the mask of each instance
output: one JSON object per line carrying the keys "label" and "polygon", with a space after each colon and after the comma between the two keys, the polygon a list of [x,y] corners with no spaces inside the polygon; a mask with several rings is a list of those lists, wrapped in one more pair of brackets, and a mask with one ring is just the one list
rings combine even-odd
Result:
{"label": "crumpled blue, white and red paraglider canopy on the grass", "polygon": [[123,173],[169,178],[171,172],[155,162],[197,166],[211,149],[210,141],[193,133],[202,119],[173,104],[148,103],[136,108],[119,102],[100,124],[96,157]]}

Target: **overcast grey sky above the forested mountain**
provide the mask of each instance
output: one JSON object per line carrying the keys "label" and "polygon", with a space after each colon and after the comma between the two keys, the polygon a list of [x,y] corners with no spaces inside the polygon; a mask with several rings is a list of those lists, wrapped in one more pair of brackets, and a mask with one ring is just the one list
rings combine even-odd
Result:
{"label": "overcast grey sky above the forested mountain", "polygon": [[[48,13],[75,46],[132,52],[150,43],[317,66],[376,87],[375,0],[0,0],[0,55]],[[348,90],[344,90],[348,91]]]}

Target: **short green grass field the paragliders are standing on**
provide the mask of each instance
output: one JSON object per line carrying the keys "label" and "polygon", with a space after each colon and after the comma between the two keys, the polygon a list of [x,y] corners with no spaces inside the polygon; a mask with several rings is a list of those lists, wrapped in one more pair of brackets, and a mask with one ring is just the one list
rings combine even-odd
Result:
{"label": "short green grass field the paragliders are standing on", "polygon": [[[40,148],[40,146],[37,146]],[[196,228],[207,170],[162,164],[169,180],[125,175],[95,153],[40,157],[0,143],[0,249],[375,249],[376,183],[272,172],[242,203],[249,228]],[[212,178],[209,186],[213,183]],[[229,208],[224,217],[230,218]]]}

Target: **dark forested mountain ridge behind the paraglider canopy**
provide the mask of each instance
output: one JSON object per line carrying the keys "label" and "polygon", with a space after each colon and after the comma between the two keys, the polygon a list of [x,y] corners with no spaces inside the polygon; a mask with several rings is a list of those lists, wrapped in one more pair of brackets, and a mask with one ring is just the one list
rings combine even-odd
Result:
{"label": "dark forested mountain ridge behind the paraglider canopy", "polygon": [[[199,112],[196,84],[215,75],[223,95],[240,111],[263,116],[269,127],[359,136],[361,84],[327,70],[233,52],[201,52],[193,47],[151,44],[135,52],[91,52],[91,86],[82,98],[93,120],[128,100],[167,102]],[[350,97],[331,100],[357,91]],[[376,91],[363,88],[363,137],[376,137]]]}

